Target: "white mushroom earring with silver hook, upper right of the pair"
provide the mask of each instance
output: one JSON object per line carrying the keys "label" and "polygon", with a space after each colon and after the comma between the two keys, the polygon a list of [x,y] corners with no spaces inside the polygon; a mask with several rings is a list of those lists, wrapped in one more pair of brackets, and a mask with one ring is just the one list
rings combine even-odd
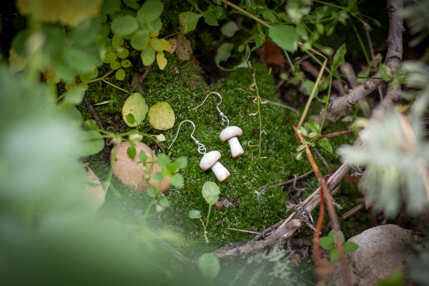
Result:
{"label": "white mushroom earring with silver hook, upper right of the pair", "polygon": [[[228,143],[230,143],[231,155],[233,156],[233,158],[236,158],[236,157],[244,154],[243,147],[241,146],[241,144],[238,140],[238,137],[243,134],[243,131],[241,130],[241,128],[239,128],[237,126],[229,126],[230,121],[228,120],[227,116],[225,116],[225,114],[219,109],[219,104],[222,103],[221,94],[218,94],[217,92],[210,92],[205,97],[204,101],[199,106],[202,106],[204,104],[205,100],[207,99],[207,97],[210,94],[216,94],[221,99],[221,101],[218,103],[218,105],[216,105],[216,110],[218,111],[219,116],[221,116],[222,125],[224,125],[226,128],[224,130],[222,130],[222,132],[219,136],[219,139],[221,139],[224,142],[228,141]],[[194,109],[197,109],[199,106],[196,106]],[[225,125],[225,122],[226,122],[226,125]]]}

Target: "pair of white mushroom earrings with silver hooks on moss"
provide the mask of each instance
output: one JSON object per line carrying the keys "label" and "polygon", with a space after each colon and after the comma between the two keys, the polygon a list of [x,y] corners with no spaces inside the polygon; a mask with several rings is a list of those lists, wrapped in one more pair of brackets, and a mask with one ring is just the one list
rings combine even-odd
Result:
{"label": "pair of white mushroom earrings with silver hooks on moss", "polygon": [[[216,105],[216,110],[218,111],[219,116],[221,116],[222,125],[224,125],[226,128],[222,130],[221,134],[219,135],[219,139],[221,139],[224,142],[228,141],[228,143],[230,143],[231,155],[233,156],[233,158],[236,158],[244,153],[244,150],[237,138],[243,134],[243,131],[241,130],[241,128],[237,126],[229,126],[230,121],[228,120],[227,116],[225,116],[224,113],[221,112],[221,110],[219,109],[219,104],[222,103],[221,94],[218,94],[217,92],[209,93],[199,106],[202,106],[204,104],[205,100],[208,98],[210,94],[216,94],[221,99],[218,105]],[[196,106],[193,110],[197,109],[199,106]],[[202,170],[208,170],[208,168],[211,168],[211,170],[213,171],[213,173],[215,173],[215,176],[216,178],[218,178],[219,181],[223,182],[224,180],[226,180],[230,176],[230,172],[227,170],[227,168],[224,167],[224,165],[222,165],[221,162],[219,162],[219,159],[221,158],[221,152],[215,150],[215,151],[206,153],[205,146],[202,143],[200,143],[198,140],[196,140],[195,137],[193,137],[193,133],[195,132],[195,124],[192,121],[184,120],[180,122],[179,128],[177,129],[176,137],[174,138],[173,142],[170,144],[168,148],[170,149],[174,141],[177,139],[180,127],[184,122],[190,122],[190,124],[192,124],[193,131],[190,134],[190,138],[198,146],[198,152],[203,155],[201,161],[199,162],[199,167]]]}

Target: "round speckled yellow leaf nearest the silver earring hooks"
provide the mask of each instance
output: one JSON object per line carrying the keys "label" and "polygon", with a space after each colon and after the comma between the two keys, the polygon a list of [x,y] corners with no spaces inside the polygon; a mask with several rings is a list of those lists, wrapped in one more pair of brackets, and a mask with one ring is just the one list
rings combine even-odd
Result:
{"label": "round speckled yellow leaf nearest the silver earring hooks", "polygon": [[148,119],[149,123],[158,130],[172,128],[176,120],[174,111],[165,101],[158,101],[149,109]]}

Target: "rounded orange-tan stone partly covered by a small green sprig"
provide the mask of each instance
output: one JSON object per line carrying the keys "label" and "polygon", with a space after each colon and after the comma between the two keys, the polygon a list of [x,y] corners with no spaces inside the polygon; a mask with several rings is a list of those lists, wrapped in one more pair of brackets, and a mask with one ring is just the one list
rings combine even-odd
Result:
{"label": "rounded orange-tan stone partly covered by a small green sprig", "polygon": [[[116,161],[113,164],[113,173],[125,186],[137,192],[146,193],[146,189],[148,188],[156,189],[159,184],[158,181],[155,181],[151,178],[146,183],[143,177],[148,177],[148,174],[145,173],[145,171],[151,173],[151,177],[155,173],[161,172],[162,169],[158,165],[158,163],[150,163],[151,161],[157,160],[157,156],[154,155],[152,157],[152,149],[145,143],[140,142],[139,145],[134,146],[136,148],[136,158],[134,158],[134,160],[131,160],[127,153],[127,149],[130,146],[131,144],[128,142],[122,142],[117,146]],[[148,164],[146,164],[146,166],[143,166],[143,164],[137,164],[137,162],[139,161],[140,151],[145,152],[148,157],[148,159],[146,160],[146,163]],[[113,155],[113,149],[110,155]],[[149,170],[151,166],[154,168],[153,172],[150,172]],[[161,181],[161,192],[166,192],[169,186],[170,180],[168,177],[165,177]]]}

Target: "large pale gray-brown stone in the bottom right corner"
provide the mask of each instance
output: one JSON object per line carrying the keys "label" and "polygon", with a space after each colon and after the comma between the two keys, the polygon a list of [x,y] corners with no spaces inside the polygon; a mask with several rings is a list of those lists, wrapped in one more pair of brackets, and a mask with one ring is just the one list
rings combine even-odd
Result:
{"label": "large pale gray-brown stone in the bottom right corner", "polygon": [[[398,225],[379,225],[351,237],[349,241],[359,245],[355,252],[345,254],[352,284],[372,286],[396,268],[405,268],[405,261],[413,252],[404,252],[403,246],[419,239],[411,230]],[[429,249],[429,243],[423,247]],[[333,282],[336,286],[345,285],[338,260],[335,262],[335,268]],[[405,278],[405,285],[417,285]]]}

